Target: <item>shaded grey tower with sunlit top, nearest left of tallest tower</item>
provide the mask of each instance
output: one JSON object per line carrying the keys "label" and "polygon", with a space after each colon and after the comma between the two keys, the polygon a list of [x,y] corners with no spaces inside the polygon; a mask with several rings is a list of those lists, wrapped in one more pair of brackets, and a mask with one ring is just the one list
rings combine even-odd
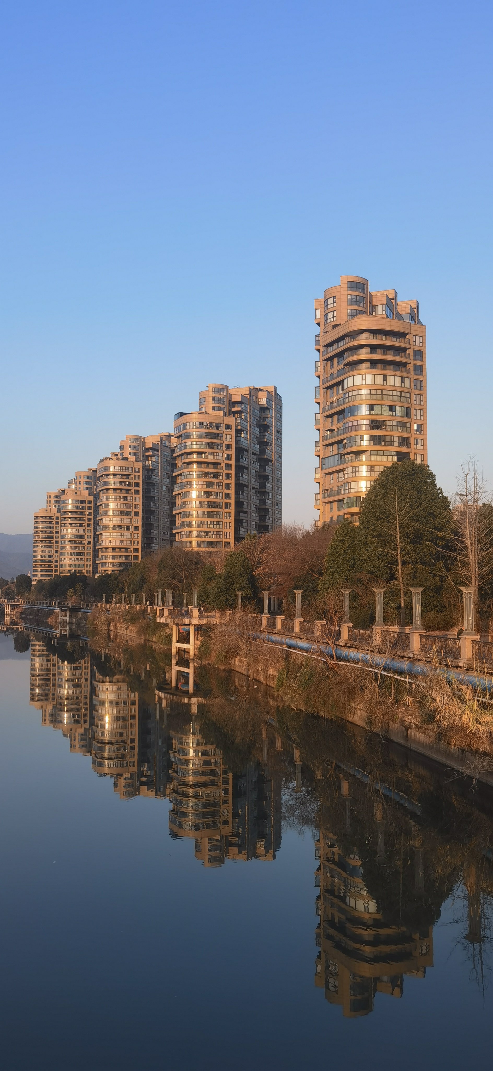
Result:
{"label": "shaded grey tower with sunlit top, nearest left of tallest tower", "polygon": [[209,383],[200,412],[234,418],[234,542],[282,524],[282,398],[276,387]]}

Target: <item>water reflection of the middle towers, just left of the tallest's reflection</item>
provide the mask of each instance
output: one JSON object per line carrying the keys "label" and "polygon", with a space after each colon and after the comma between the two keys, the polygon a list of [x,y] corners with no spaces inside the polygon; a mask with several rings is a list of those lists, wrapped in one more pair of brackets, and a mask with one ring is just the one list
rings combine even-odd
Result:
{"label": "water reflection of the middle towers, just left of the tallest's reflection", "polygon": [[280,776],[253,760],[240,773],[231,772],[194,715],[172,735],[170,799],[171,835],[192,838],[196,858],[205,866],[220,866],[227,858],[276,858],[281,843]]}

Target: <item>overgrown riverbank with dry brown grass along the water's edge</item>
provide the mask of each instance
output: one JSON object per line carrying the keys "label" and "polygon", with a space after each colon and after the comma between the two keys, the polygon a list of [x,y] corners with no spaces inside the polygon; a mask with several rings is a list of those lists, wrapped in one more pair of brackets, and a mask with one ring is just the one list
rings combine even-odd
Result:
{"label": "overgrown riverbank with dry brown grass along the water's edge", "polygon": [[[236,618],[236,616],[235,616]],[[421,755],[493,785],[493,705],[471,687],[433,667],[422,680],[288,651],[252,637],[251,622],[201,630],[196,664],[232,669],[272,690],[276,703],[358,725]],[[169,649],[171,630],[138,607],[96,610],[89,619],[97,643]]]}

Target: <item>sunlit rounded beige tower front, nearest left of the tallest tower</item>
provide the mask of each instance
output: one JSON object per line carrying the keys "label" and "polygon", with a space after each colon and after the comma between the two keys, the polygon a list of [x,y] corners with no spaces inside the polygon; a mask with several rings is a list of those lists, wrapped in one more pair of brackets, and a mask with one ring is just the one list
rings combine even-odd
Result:
{"label": "sunlit rounded beige tower front, nearest left of the tallest tower", "polygon": [[179,412],[174,420],[174,536],[187,549],[222,550],[234,543],[234,421]]}

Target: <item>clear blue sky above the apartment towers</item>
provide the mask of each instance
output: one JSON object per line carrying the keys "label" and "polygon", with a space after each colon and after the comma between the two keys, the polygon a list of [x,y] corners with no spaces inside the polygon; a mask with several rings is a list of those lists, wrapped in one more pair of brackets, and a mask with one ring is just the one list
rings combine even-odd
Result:
{"label": "clear blue sky above the apartment towers", "polygon": [[0,17],[0,530],[207,381],[275,382],[313,517],[313,298],[419,299],[429,459],[493,481],[492,12],[17,0]]}

